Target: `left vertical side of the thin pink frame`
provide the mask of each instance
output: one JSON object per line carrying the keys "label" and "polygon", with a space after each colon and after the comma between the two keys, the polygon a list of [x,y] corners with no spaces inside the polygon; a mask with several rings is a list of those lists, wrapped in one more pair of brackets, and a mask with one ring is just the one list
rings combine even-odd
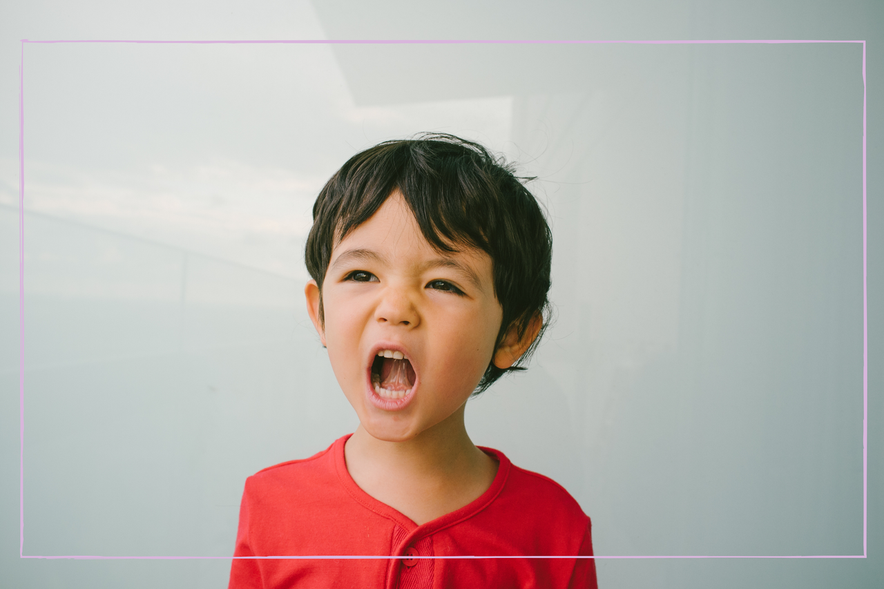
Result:
{"label": "left vertical side of the thin pink frame", "polygon": [[25,42],[19,65],[19,557],[25,550]]}

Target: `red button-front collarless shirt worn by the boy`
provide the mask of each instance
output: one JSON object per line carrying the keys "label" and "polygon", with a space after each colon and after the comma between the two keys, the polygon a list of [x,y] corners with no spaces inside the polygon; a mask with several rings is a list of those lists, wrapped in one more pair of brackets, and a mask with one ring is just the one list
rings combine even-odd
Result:
{"label": "red button-front collarless shirt worn by the boy", "polygon": [[[233,559],[230,589],[262,587],[580,587],[595,589],[590,518],[565,489],[499,461],[481,497],[417,525],[357,486],[344,442],[246,480],[234,556],[361,555],[369,559]],[[409,559],[418,556],[566,558]]]}

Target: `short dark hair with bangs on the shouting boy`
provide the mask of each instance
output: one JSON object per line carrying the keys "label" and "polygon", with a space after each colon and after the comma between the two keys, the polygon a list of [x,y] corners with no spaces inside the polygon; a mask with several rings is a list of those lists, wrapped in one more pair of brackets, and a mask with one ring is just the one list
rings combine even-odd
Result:
{"label": "short dark hair with bangs on the shouting boy", "polygon": [[[502,157],[449,134],[420,134],[357,153],[325,184],[313,205],[304,258],[322,293],[331,249],[365,223],[396,190],[415,215],[423,237],[440,252],[482,249],[492,258],[494,294],[503,308],[495,350],[514,326],[524,336],[531,317],[541,333],[507,369],[489,364],[474,394],[507,371],[524,370],[550,319],[547,293],[552,233],[537,199]],[[320,318],[324,320],[320,296]]]}

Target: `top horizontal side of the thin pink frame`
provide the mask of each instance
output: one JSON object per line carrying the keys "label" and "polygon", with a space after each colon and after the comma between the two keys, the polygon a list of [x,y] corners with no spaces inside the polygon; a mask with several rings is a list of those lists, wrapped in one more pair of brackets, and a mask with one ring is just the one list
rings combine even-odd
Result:
{"label": "top horizontal side of the thin pink frame", "polygon": [[744,40],[671,40],[671,41],[556,41],[556,40],[517,40],[517,39],[252,39],[252,40],[206,40],[206,41],[156,41],[156,40],[133,40],[133,39],[58,39],[50,41],[30,41],[22,39],[26,43],[196,43],[196,44],[239,44],[239,43],[300,43],[300,44],[468,44],[468,43],[506,43],[506,44],[553,44],[553,45],[569,45],[569,44],[601,44],[601,43],[630,43],[639,45],[662,45],[662,44],[697,44],[697,43],[864,43],[865,41],[850,41],[837,39],[744,39]]}

